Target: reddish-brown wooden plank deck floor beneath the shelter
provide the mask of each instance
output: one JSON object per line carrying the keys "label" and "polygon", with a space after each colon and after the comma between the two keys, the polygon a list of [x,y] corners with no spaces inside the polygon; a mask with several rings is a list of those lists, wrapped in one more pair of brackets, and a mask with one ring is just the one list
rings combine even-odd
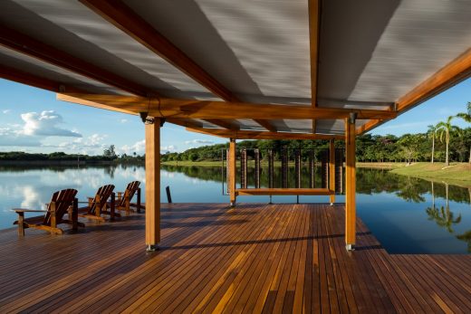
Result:
{"label": "reddish-brown wooden plank deck floor beneath the shelter", "polygon": [[471,312],[471,256],[389,255],[343,206],[164,205],[84,232],[0,233],[0,312]]}

